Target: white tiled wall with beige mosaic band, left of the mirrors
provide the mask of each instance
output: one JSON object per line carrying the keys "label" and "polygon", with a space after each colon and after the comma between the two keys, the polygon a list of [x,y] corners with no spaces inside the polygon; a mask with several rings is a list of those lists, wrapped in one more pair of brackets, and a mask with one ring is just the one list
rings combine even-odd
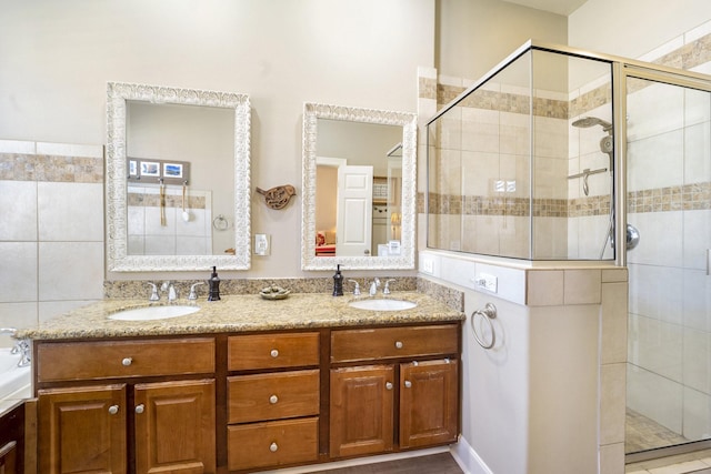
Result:
{"label": "white tiled wall with beige mosaic band, left of the mirrors", "polygon": [[2,327],[102,299],[102,147],[0,140],[0,262]]}

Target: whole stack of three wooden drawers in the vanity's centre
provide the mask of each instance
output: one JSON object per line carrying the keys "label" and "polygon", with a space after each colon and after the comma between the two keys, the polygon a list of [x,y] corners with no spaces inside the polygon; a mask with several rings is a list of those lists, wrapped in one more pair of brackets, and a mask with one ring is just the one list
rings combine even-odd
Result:
{"label": "whole stack of three wooden drawers in the vanity's centre", "polygon": [[319,460],[320,333],[228,337],[228,470]]}

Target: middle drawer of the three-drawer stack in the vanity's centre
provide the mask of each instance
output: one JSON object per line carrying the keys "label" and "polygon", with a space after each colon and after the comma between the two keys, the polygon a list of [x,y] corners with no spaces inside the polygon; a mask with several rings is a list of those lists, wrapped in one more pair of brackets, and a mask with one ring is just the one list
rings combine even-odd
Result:
{"label": "middle drawer of the three-drawer stack in the vanity's centre", "polygon": [[319,414],[319,371],[228,377],[228,423]]}

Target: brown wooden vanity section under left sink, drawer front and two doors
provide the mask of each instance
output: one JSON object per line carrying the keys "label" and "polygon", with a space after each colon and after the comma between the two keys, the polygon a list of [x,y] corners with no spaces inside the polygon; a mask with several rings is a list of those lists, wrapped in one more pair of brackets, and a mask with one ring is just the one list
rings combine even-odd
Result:
{"label": "brown wooden vanity section under left sink, drawer front and two doors", "polygon": [[39,472],[217,471],[214,339],[36,345]]}

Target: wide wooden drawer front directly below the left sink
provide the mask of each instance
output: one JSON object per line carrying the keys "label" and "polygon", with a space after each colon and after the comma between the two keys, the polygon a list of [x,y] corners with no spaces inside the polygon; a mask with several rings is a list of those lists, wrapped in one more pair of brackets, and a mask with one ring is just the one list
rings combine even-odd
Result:
{"label": "wide wooden drawer front directly below the left sink", "polygon": [[40,343],[40,382],[214,372],[214,339]]}

